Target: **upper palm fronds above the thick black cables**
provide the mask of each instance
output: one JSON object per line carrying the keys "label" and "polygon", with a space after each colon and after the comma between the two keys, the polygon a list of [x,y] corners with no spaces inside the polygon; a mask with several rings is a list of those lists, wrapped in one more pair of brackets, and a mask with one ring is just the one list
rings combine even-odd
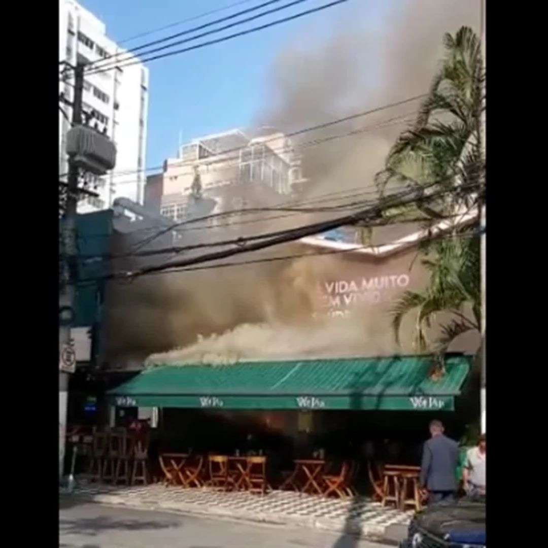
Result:
{"label": "upper palm fronds above the thick black cables", "polygon": [[[390,182],[425,187],[441,185],[450,192],[435,204],[418,205],[429,218],[454,213],[469,205],[469,189],[484,177],[481,113],[484,108],[484,71],[479,39],[469,27],[444,37],[441,67],[419,109],[412,128],[392,146],[385,169],[377,175],[384,193]],[[459,191],[459,189],[462,189]]]}

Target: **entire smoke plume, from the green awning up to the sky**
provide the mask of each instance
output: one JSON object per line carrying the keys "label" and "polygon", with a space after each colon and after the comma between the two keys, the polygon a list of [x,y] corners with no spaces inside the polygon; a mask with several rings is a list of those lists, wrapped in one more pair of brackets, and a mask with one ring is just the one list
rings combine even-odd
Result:
{"label": "entire smoke plume, from the green awning up to the sky", "polygon": [[[454,33],[462,25],[477,28],[479,2],[359,0],[333,9],[329,21],[324,29],[317,28],[315,21],[305,22],[298,36],[279,53],[267,78],[266,106],[258,113],[256,125],[292,132],[425,93],[444,33]],[[417,106],[415,102],[307,133],[296,144],[372,127],[398,116],[407,120],[404,115],[412,115]],[[386,152],[404,128],[404,123],[392,124],[302,147],[303,171],[310,185],[299,200],[344,190],[372,192],[374,174],[383,167]],[[369,196],[374,197],[374,193]],[[293,215],[250,224],[242,234],[278,230],[307,220]],[[195,241],[208,237],[222,235],[196,231],[193,236]],[[288,244],[261,254],[239,255],[235,260],[296,252],[302,254],[302,246]],[[409,262],[413,258],[410,255]],[[113,282],[106,301],[105,360],[115,364],[173,349],[182,350],[156,358],[222,362],[394,352],[389,320],[380,322],[367,315],[350,323],[311,319],[318,278],[333,272],[344,277],[345,264],[344,259],[333,257],[300,258],[146,276],[129,285]]]}

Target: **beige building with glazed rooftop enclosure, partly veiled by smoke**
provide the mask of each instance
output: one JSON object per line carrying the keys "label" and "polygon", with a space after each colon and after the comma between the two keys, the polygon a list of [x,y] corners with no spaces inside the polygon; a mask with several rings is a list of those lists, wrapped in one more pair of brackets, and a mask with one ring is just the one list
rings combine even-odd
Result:
{"label": "beige building with glazed rooftop enclosure, partly veiled by smoke", "polygon": [[[163,216],[185,218],[196,174],[203,195],[216,200],[215,212],[249,207],[256,199],[282,198],[301,181],[300,158],[277,130],[262,128],[254,136],[239,129],[206,135],[180,146],[178,157],[165,161]],[[260,198],[256,191],[261,191]]]}

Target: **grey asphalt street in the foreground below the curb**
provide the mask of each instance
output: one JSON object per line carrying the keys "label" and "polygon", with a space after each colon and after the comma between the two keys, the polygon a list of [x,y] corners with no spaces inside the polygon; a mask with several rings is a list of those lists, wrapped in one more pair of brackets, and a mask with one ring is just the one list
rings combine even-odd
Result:
{"label": "grey asphalt street in the foreground below the curb", "polygon": [[61,548],[381,548],[312,529],[60,502]]}

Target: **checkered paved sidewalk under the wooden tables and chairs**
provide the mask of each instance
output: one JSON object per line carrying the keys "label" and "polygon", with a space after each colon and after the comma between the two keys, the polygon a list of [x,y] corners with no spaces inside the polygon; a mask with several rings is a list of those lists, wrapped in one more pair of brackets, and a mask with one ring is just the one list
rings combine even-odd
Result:
{"label": "checkered paved sidewalk under the wooden tables and chairs", "polygon": [[161,484],[115,487],[79,480],[73,494],[68,496],[141,510],[167,510],[233,520],[291,524],[334,533],[358,534],[368,539],[383,538],[386,529],[391,526],[406,526],[413,515],[411,511],[384,508],[364,498],[322,499],[290,491],[274,491],[260,496],[207,488],[164,487]]}

